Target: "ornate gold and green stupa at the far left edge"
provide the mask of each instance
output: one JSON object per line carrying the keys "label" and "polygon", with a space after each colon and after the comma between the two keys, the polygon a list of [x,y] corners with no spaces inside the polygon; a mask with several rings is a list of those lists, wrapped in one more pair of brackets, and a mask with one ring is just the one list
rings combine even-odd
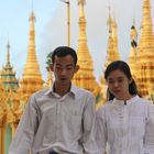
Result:
{"label": "ornate gold and green stupa at the far left edge", "polygon": [[20,110],[19,81],[10,64],[10,44],[7,45],[7,63],[0,73],[0,153],[8,148],[15,132],[22,111]]}

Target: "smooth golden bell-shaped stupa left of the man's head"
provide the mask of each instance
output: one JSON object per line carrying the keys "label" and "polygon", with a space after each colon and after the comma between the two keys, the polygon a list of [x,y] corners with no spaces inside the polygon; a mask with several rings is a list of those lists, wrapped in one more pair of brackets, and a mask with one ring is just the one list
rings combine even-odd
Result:
{"label": "smooth golden bell-shaped stupa left of the man's head", "polygon": [[33,92],[40,90],[43,87],[43,79],[40,72],[35,54],[35,14],[32,11],[30,15],[30,40],[29,40],[29,53],[28,59],[20,81],[20,90],[22,98],[25,100]]}

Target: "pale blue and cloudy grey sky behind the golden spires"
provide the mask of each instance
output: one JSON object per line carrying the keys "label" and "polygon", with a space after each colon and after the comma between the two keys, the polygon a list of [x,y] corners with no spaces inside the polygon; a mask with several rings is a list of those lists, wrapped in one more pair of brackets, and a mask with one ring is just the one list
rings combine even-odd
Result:
{"label": "pale blue and cloudy grey sky behind the golden spires", "polygon": [[[70,1],[70,46],[78,46],[78,4]],[[21,78],[28,56],[30,23],[33,10],[35,23],[35,52],[43,79],[46,80],[46,55],[58,45],[67,45],[67,6],[59,0],[0,0],[0,70],[7,61],[7,43],[10,42],[10,62],[16,78]],[[143,0],[86,0],[87,43],[94,61],[94,74],[99,81],[103,73],[108,46],[108,7],[118,24],[119,53],[128,62],[130,30],[135,20],[139,32],[142,22]],[[151,0],[154,12],[154,0]],[[152,14],[154,25],[154,13]]]}

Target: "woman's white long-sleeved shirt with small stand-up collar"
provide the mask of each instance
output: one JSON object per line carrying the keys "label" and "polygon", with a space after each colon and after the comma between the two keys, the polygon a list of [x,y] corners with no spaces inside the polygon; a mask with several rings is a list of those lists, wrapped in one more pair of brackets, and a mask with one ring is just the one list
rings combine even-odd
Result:
{"label": "woman's white long-sleeved shirt with small stand-up collar", "polygon": [[97,111],[99,154],[154,154],[154,105],[139,96],[113,99]]}

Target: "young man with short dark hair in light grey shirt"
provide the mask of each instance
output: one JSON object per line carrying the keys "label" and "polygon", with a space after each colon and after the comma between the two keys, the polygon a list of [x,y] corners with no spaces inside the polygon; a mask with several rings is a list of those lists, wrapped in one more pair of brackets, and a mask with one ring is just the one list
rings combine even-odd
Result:
{"label": "young man with short dark hair in light grey shirt", "polygon": [[79,69],[76,52],[57,47],[51,69],[55,81],[32,95],[9,154],[96,154],[95,98],[72,84]]}

